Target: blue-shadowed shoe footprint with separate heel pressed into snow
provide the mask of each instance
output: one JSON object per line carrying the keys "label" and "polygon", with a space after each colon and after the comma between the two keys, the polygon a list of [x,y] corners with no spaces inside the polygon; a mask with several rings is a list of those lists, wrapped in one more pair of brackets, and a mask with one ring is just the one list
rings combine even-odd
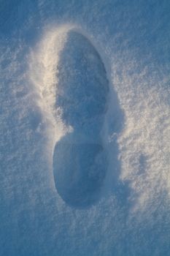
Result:
{"label": "blue-shadowed shoe footprint with separate heel pressed into snow", "polygon": [[88,38],[70,30],[58,62],[55,108],[72,132],[55,144],[53,153],[55,187],[69,206],[89,207],[101,196],[108,169],[101,135],[108,96],[101,56]]}

